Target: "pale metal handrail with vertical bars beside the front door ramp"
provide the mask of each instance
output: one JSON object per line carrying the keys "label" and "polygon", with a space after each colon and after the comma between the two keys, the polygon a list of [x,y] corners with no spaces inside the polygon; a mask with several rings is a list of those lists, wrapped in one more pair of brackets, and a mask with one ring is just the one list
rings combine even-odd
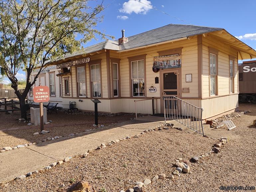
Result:
{"label": "pale metal handrail with vertical bars beside the front door ramp", "polygon": [[176,96],[163,96],[164,115],[166,119],[180,122],[188,128],[203,134],[203,108],[196,107]]}

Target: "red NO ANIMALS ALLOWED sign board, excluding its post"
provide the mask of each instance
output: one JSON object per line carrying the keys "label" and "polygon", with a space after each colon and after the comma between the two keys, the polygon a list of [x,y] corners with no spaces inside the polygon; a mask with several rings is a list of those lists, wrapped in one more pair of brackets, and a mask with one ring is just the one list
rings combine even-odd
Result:
{"label": "red NO ANIMALS ALLOWED sign board, excluding its post", "polygon": [[47,86],[35,86],[33,88],[34,102],[47,102],[49,101],[49,87]]}

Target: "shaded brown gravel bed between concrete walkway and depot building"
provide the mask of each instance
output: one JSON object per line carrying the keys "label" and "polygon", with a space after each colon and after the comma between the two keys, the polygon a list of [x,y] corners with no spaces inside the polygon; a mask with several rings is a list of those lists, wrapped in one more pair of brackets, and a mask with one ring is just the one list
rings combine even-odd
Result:
{"label": "shaded brown gravel bed between concrete walkway and depot building", "polygon": [[[17,116],[17,114],[5,114],[2,113],[4,116],[0,117],[0,121],[3,122],[1,123],[0,126],[6,128],[11,128],[9,126],[14,126],[19,127],[19,125],[24,127],[24,124],[28,123],[19,123],[19,121],[13,119],[12,116]],[[19,117],[19,115],[17,116]],[[62,127],[51,127],[51,128],[45,128],[45,130],[50,131],[50,133],[46,135],[36,135],[34,136],[33,133],[35,132],[40,132],[40,127],[39,128],[32,128],[32,126],[25,126],[28,129],[20,129],[20,130],[6,130],[6,131],[1,131],[0,129],[0,149],[5,146],[16,146],[18,144],[29,144],[29,143],[34,143],[37,142],[38,140],[43,140],[46,139],[47,137],[55,137],[55,136],[64,136],[64,135],[69,135],[71,133],[80,133],[84,132],[85,130],[88,129],[93,129],[94,127],[92,126],[94,124],[94,116],[93,115],[82,115],[82,114],[77,114],[77,115],[71,115],[71,114],[65,114],[63,112],[58,112],[58,115],[56,114],[51,114],[48,119],[53,119],[53,123],[48,124],[48,125],[60,125],[60,124],[72,124],[72,123],[84,123],[84,125],[70,125],[70,126],[62,126]],[[120,123],[123,121],[130,120],[131,118],[134,118],[135,115],[133,114],[128,114],[128,113],[119,113],[119,115],[115,115],[111,118],[109,116],[103,116],[99,117],[98,122],[99,124],[103,124],[105,126],[114,124],[114,123]],[[59,122],[59,123],[56,123]]]}

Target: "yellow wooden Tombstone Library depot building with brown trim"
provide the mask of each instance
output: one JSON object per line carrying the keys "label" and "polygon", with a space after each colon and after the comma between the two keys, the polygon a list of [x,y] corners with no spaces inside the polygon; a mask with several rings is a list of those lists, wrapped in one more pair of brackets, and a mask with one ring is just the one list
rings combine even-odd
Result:
{"label": "yellow wooden Tombstone Library depot building with brown trim", "polygon": [[222,28],[170,24],[131,37],[122,30],[116,41],[49,63],[36,85],[49,86],[50,102],[64,109],[75,101],[93,111],[97,98],[105,113],[134,113],[135,105],[137,113],[164,113],[170,95],[213,119],[238,109],[238,60],[251,58],[256,51]]}

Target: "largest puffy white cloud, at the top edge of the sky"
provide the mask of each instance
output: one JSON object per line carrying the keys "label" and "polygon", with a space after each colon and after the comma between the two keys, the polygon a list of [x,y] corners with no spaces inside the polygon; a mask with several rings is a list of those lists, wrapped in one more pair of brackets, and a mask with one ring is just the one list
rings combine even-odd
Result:
{"label": "largest puffy white cloud, at the top edge of the sky", "polygon": [[[140,2],[138,2],[140,1]],[[119,9],[121,13],[131,14],[132,12],[136,14],[147,14],[147,12],[153,8],[151,2],[148,0],[129,0],[124,2],[122,9]]]}

